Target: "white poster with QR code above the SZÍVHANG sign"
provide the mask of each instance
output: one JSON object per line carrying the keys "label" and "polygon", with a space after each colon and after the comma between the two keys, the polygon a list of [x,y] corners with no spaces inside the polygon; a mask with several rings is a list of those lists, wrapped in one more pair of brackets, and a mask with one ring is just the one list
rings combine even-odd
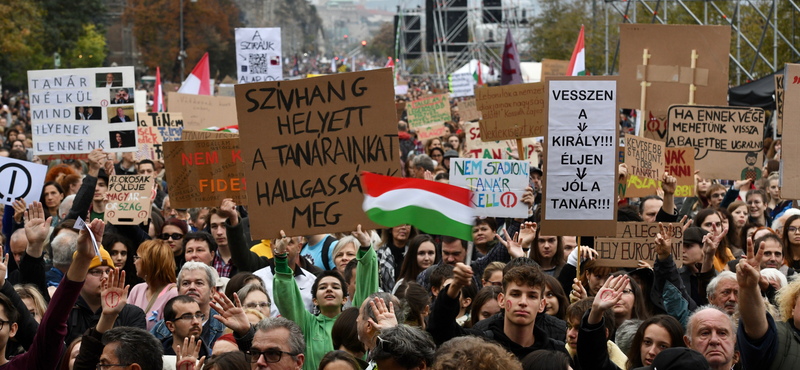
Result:
{"label": "white poster with QR code above the SZ\u00cdVHANG sign", "polygon": [[236,29],[236,70],[240,84],[282,80],[281,59],[280,28]]}

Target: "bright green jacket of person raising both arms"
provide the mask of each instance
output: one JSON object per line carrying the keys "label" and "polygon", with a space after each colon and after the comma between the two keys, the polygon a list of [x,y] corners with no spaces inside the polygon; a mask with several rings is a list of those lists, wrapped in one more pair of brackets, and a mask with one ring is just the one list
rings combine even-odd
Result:
{"label": "bright green jacket of person raising both arms", "polygon": [[[353,297],[353,307],[361,306],[361,303],[370,294],[378,291],[378,258],[375,250],[371,247],[366,250],[359,249],[356,259],[358,267],[356,267],[356,292]],[[342,289],[347,292],[346,287],[342,287]],[[312,292],[313,294],[314,292]],[[331,330],[339,316],[334,318],[325,315],[315,316],[306,310],[300,289],[294,281],[294,275],[287,264],[286,257],[275,257],[273,296],[281,315],[297,323],[303,331],[306,339],[306,358],[303,369],[316,370],[322,357],[334,350]]]}

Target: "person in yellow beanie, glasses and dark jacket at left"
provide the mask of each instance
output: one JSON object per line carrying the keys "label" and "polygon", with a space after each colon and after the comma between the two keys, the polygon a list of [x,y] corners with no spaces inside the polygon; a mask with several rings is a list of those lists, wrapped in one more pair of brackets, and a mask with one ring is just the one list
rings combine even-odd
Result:
{"label": "person in yellow beanie, glasses and dark jacket at left", "polygon": [[[73,256],[73,263],[74,258]],[[111,260],[111,255],[106,252],[105,248],[100,247],[100,256],[95,256],[92,259],[78,302],[70,310],[69,321],[67,322],[67,343],[72,343],[75,338],[83,335],[86,330],[97,325],[103,304],[100,291],[103,290],[105,279],[113,270],[114,261]],[[115,324],[115,326],[131,326],[142,329],[147,327],[144,311],[134,305],[126,305],[120,312]]]}

